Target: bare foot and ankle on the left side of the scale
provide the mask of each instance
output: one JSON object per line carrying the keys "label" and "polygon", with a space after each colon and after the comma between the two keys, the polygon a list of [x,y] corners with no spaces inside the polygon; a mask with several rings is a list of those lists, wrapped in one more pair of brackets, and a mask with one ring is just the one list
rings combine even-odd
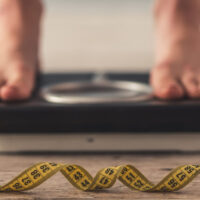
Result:
{"label": "bare foot and ankle on the left side of the scale", "polygon": [[0,0],[0,99],[24,100],[38,63],[39,0]]}

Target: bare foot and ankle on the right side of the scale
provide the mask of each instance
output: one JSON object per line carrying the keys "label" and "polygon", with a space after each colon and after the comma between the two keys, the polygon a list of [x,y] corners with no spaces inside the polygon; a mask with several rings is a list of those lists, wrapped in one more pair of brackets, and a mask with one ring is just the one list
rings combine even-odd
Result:
{"label": "bare foot and ankle on the right side of the scale", "polygon": [[200,98],[200,1],[157,0],[156,66],[151,73],[161,99]]}

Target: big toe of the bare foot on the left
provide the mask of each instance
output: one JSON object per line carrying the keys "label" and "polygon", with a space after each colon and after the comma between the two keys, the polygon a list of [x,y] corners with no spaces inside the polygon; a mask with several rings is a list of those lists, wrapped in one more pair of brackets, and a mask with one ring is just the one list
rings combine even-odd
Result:
{"label": "big toe of the bare foot on the left", "polygon": [[26,67],[16,67],[15,71],[7,78],[0,90],[0,97],[4,101],[28,99],[34,85],[34,73]]}

